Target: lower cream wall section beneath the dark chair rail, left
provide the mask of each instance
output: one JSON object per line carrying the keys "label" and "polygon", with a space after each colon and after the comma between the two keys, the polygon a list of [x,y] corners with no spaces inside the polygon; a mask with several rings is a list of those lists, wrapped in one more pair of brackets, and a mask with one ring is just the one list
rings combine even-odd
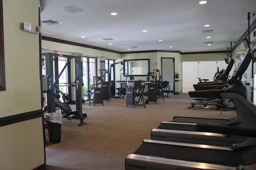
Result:
{"label": "lower cream wall section beneath the dark chair rail, left", "polygon": [[31,170],[44,164],[42,118],[0,128],[0,169]]}

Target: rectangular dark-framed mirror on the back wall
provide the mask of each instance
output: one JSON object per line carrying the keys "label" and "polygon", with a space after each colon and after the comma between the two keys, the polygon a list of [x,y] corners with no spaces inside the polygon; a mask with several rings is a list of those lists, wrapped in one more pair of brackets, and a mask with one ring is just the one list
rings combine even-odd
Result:
{"label": "rectangular dark-framed mirror on the back wall", "polygon": [[149,59],[124,60],[124,75],[147,76]]}

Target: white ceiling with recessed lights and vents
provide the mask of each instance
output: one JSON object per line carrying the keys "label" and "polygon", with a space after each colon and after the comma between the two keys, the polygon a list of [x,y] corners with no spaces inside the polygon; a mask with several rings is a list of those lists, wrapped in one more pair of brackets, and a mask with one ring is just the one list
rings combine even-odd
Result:
{"label": "white ceiling with recessed lights and vents", "polygon": [[[248,29],[255,0],[46,0],[42,35],[118,52],[167,50],[226,51]],[[76,5],[80,12],[60,8]],[[116,12],[118,15],[111,16]],[[250,14],[252,23],[252,13]],[[256,18],[256,16],[255,16]],[[254,20],[255,20],[254,18]],[[210,24],[210,27],[204,25]],[[147,32],[142,32],[142,30]],[[213,33],[202,33],[214,30]],[[80,38],[85,36],[85,38]],[[211,38],[206,38],[211,36]],[[114,40],[103,40],[103,39]],[[158,41],[162,39],[162,41]],[[212,41],[212,45],[208,43]],[[112,45],[108,45],[112,43]],[[136,46],[136,47],[134,47]],[[169,46],[173,46],[170,48]],[[128,50],[130,49],[130,50]]]}

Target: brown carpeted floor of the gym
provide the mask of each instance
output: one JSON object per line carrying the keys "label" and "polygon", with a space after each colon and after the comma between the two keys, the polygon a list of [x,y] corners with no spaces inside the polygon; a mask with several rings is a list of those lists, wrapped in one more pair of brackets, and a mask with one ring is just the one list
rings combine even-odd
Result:
{"label": "brown carpeted floor of the gym", "polygon": [[[194,102],[187,93],[170,95],[143,106],[126,107],[126,99],[112,98],[96,106],[82,104],[87,114],[85,125],[80,120],[62,119],[61,142],[52,144],[46,133],[46,164],[48,170],[124,170],[125,158],[132,154],[143,139],[150,139],[150,131],[161,121],[173,116],[226,119],[236,111],[216,109],[189,109]],[[76,106],[72,106],[75,110]],[[57,110],[56,112],[59,112]]]}

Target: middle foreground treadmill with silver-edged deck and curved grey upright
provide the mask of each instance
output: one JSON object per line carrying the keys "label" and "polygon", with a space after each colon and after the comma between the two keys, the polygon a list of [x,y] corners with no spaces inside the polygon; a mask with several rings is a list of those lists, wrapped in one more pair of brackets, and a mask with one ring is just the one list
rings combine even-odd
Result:
{"label": "middle foreground treadmill with silver-edged deck and curved grey upright", "polygon": [[[256,129],[256,106],[242,98],[238,94],[222,94],[224,98],[231,98],[241,114],[241,127]],[[202,123],[201,123],[202,124]],[[205,124],[205,123],[204,123]],[[207,126],[213,124],[206,124]],[[238,149],[245,145],[253,145],[256,143],[255,138],[241,137],[236,135],[224,135],[224,131],[217,133],[209,133],[209,131],[201,128],[198,130],[196,123],[177,123],[177,122],[161,122],[161,125],[151,131],[151,139],[159,141],[172,141],[182,143],[194,143],[204,145],[214,145],[222,147],[230,147]],[[206,128],[207,128],[206,126]],[[215,124],[216,126],[216,124]],[[217,127],[232,128],[233,126],[218,125]]]}

